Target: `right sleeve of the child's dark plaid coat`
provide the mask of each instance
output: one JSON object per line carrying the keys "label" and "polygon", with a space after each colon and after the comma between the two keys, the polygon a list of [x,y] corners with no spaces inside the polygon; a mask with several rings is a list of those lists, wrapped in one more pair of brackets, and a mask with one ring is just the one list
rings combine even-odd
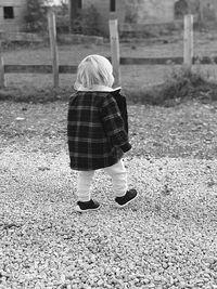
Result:
{"label": "right sleeve of the child's dark plaid coat", "polygon": [[128,152],[131,148],[128,141],[128,134],[125,130],[117,103],[111,94],[107,94],[104,100],[101,109],[101,120],[104,131],[112,144],[120,147],[124,153]]}

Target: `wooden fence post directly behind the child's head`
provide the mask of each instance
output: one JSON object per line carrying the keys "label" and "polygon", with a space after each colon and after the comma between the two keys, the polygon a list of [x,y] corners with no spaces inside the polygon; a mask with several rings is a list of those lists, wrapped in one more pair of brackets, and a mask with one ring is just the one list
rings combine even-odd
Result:
{"label": "wooden fence post directly behind the child's head", "polygon": [[119,69],[119,36],[117,30],[117,19],[110,19],[110,41],[112,53],[113,74],[115,78],[115,87],[120,86],[120,69]]}

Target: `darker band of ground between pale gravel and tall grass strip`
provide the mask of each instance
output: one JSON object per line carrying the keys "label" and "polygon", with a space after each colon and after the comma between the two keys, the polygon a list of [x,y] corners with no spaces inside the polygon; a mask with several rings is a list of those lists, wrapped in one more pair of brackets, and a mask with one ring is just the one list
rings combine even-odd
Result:
{"label": "darker band of ground between pale gravel and tall grass strip", "polygon": [[[0,102],[1,146],[55,152],[66,147],[67,103]],[[130,156],[216,158],[217,105],[129,106]],[[21,119],[18,119],[21,118]]]}

